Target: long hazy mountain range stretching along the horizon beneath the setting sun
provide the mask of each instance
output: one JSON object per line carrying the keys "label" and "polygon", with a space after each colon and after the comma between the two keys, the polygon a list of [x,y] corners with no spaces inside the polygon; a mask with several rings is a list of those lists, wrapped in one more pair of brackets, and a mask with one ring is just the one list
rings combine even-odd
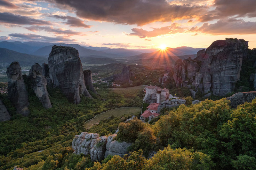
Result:
{"label": "long hazy mountain range stretching along the horizon beneath the setting sun", "polygon": [[[165,51],[156,48],[150,49],[125,49],[125,48],[107,48],[107,47],[82,47],[78,44],[49,43],[49,42],[0,42],[0,63],[11,63],[19,61],[21,65],[27,63],[47,62],[47,58],[52,50],[53,45],[70,46],[76,48],[81,60],[86,63],[119,63],[125,60],[144,60],[150,58],[159,58],[161,56],[172,56],[172,60],[179,58],[185,59],[187,55],[193,58],[197,51],[204,48],[177,47],[167,48]],[[41,56],[41,57],[40,57]],[[174,57],[173,56],[180,56]],[[85,59],[87,57],[88,59]],[[96,59],[97,58],[97,59]]]}

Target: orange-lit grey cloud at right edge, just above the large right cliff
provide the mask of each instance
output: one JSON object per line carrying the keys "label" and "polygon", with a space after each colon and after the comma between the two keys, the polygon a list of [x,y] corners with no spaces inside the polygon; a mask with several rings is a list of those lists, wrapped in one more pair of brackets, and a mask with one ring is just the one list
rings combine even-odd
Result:
{"label": "orange-lit grey cloud at right edge, just above the large right cliff", "polygon": [[242,19],[223,19],[214,24],[204,23],[201,27],[192,27],[188,32],[209,33],[212,35],[254,34],[256,22]]}

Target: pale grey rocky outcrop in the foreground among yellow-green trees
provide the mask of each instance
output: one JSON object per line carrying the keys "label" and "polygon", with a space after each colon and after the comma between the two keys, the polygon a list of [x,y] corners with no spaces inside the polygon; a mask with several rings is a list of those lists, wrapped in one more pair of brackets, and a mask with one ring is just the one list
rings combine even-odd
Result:
{"label": "pale grey rocky outcrop in the foreground among yellow-green trees", "polygon": [[131,144],[126,142],[117,142],[114,140],[116,134],[109,137],[99,137],[97,133],[82,132],[72,141],[72,148],[76,154],[91,155],[92,161],[101,161],[108,155],[120,155],[127,154],[127,147]]}

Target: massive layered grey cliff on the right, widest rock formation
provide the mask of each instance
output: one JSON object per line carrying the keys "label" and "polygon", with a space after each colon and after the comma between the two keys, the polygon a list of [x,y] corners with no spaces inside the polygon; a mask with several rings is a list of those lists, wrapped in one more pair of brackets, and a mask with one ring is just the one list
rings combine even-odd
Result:
{"label": "massive layered grey cliff on the right, widest rock formation", "polygon": [[214,41],[206,50],[198,51],[194,60],[188,58],[175,63],[173,79],[176,86],[192,84],[196,90],[212,91],[219,96],[232,92],[240,78],[247,50],[248,41],[241,39]]}

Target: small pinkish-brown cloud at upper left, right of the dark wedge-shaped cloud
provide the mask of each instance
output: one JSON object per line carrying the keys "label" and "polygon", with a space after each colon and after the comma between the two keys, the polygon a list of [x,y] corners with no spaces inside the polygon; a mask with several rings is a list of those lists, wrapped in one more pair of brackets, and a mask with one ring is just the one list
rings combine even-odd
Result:
{"label": "small pinkish-brown cloud at upper left, right of the dark wedge-shaped cloud", "polygon": [[90,28],[91,26],[84,24],[84,20],[81,20],[79,18],[70,17],[70,16],[59,16],[59,15],[52,15],[51,17],[67,20],[66,22],[63,22],[69,26],[73,27],[84,27],[84,28]]}

